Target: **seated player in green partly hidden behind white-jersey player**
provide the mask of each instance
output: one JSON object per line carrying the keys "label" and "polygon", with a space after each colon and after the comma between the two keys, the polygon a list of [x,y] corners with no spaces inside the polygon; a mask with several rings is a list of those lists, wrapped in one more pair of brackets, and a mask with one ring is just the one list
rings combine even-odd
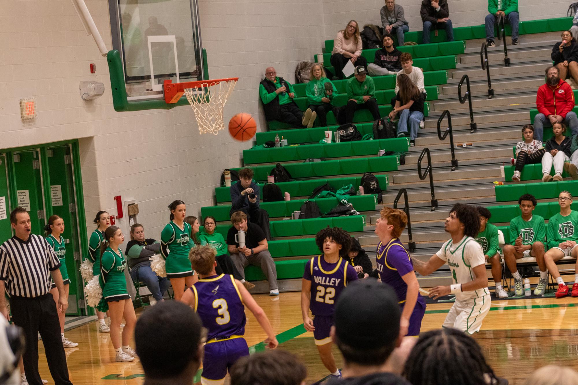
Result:
{"label": "seated player in green partly hidden behind white-jersey player", "polygon": [[492,264],[492,278],[496,285],[495,295],[498,298],[507,298],[506,290],[502,287],[502,264],[499,252],[498,227],[488,223],[492,213],[486,207],[476,207],[480,213],[480,232],[477,233],[476,242],[484,252],[484,258]]}

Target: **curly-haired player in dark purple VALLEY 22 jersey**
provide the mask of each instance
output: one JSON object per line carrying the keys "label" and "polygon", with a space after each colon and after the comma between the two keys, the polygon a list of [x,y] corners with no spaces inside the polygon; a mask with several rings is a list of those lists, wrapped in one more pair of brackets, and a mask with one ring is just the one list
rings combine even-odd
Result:
{"label": "curly-haired player in dark purple VALLEY 22 jersey", "polygon": [[[349,253],[351,237],[347,231],[327,227],[315,236],[323,254],[305,264],[301,286],[303,326],[313,332],[321,362],[331,375],[340,377],[335,357],[331,353],[331,326],[334,322],[335,302],[347,282],[357,279],[357,272],[342,256]],[[313,319],[309,317],[309,309]]]}

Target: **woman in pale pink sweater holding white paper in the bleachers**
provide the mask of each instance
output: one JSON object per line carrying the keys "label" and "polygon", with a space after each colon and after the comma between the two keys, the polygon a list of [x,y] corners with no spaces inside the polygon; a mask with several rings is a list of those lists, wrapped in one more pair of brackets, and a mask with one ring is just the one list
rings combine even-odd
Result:
{"label": "woman in pale pink sweater holding white paper in the bleachers", "polygon": [[351,20],[343,31],[339,31],[333,42],[331,65],[335,74],[343,79],[343,67],[350,60],[354,66],[364,66],[367,69],[367,59],[361,56],[361,36],[357,21]]}

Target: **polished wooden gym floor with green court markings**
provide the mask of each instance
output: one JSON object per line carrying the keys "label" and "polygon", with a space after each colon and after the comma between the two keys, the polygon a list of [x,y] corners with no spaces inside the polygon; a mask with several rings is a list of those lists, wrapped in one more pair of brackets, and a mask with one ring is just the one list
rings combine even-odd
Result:
{"label": "polished wooden gym floor with green court markings", "polygon": [[[298,292],[281,293],[279,297],[258,294],[255,300],[271,320],[279,348],[297,354],[305,362],[307,383],[313,383],[328,373],[318,358],[313,333],[306,332],[302,326],[300,296]],[[561,299],[498,301],[492,296],[492,304],[495,305],[492,305],[482,330],[475,338],[498,376],[506,377],[510,384],[516,385],[523,383],[529,373],[543,365],[558,364],[578,369],[578,299],[568,296]],[[428,305],[421,331],[439,328],[450,307],[451,302]],[[137,316],[140,312],[142,309],[137,309]],[[264,345],[261,342],[266,336],[253,315],[247,313],[247,343],[251,352],[262,350]],[[143,371],[138,359],[127,363],[114,362],[110,337],[99,334],[96,322],[67,331],[65,335],[79,343],[78,347],[65,349],[73,383],[143,383]],[[39,347],[40,374],[53,383],[41,341]],[[159,346],[158,353],[163,354],[162,346]],[[342,359],[336,349],[335,356],[340,367]]]}

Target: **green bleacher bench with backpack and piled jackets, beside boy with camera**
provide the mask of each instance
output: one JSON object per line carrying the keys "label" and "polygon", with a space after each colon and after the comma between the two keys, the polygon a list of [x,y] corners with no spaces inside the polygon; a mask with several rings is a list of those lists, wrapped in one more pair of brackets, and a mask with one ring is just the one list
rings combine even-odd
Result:
{"label": "green bleacher bench with backpack and piled jackets, beside boy with camera", "polygon": [[[338,205],[339,200],[337,198],[318,198],[310,199],[315,201],[319,206],[321,213],[328,212],[336,205]],[[269,213],[270,218],[284,218],[290,217],[292,212],[301,210],[301,205],[306,201],[306,199],[295,199],[295,200],[282,200],[279,202],[262,202],[260,204],[263,210]],[[372,211],[375,210],[375,204],[377,202],[376,195],[354,195],[349,197],[349,203],[353,204],[353,207],[357,211]],[[231,205],[218,205],[218,206],[205,206],[201,207],[201,215],[203,218],[207,216],[213,216],[217,222],[225,222],[231,219],[229,215],[231,211]]]}

